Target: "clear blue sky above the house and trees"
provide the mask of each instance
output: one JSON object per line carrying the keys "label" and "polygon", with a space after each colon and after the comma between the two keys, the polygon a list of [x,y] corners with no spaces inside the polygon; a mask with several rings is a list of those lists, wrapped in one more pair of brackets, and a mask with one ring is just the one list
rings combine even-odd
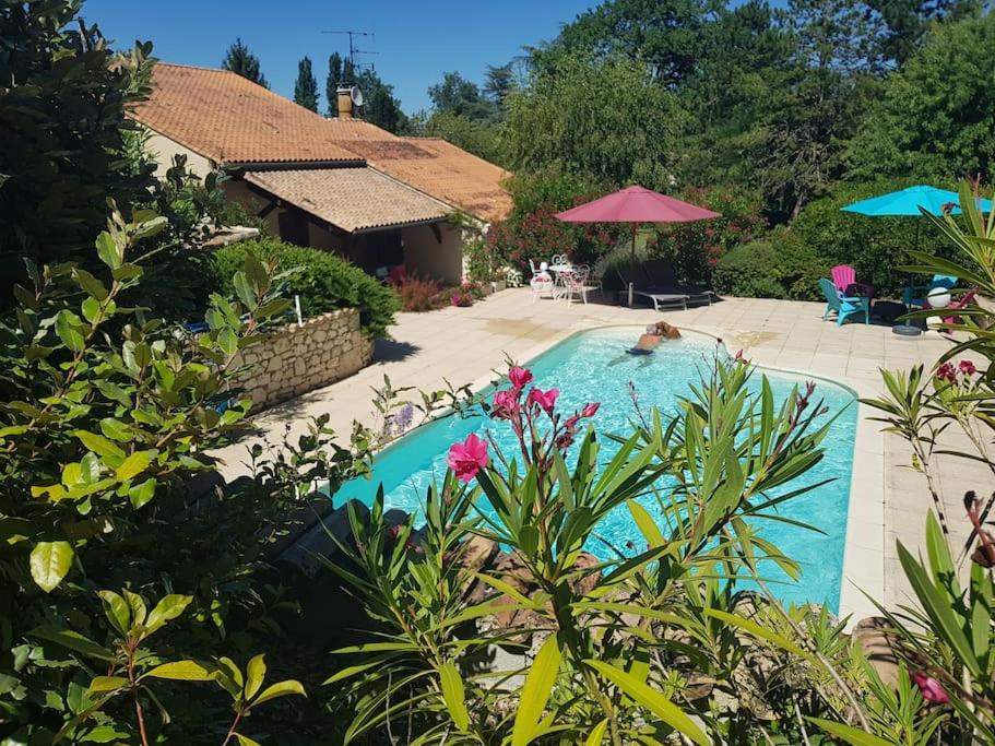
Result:
{"label": "clear blue sky above the house and trees", "polygon": [[328,56],[348,50],[346,37],[322,31],[369,31],[357,46],[379,52],[364,58],[394,85],[408,114],[427,108],[426,90],[458,70],[479,81],[487,64],[502,64],[523,45],[556,36],[593,0],[87,0],[83,13],[119,46],[151,39],[169,62],[217,68],[240,36],[262,62],[270,86],[293,96],[297,61],[315,63],[319,106],[324,109]]}

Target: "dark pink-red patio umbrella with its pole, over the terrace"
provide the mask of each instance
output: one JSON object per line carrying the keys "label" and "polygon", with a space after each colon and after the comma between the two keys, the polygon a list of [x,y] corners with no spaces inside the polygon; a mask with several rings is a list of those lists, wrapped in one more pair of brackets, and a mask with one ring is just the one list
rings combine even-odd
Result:
{"label": "dark pink-red patio umbrella with its pole, over the terrace", "polygon": [[[640,223],[691,223],[720,217],[719,213],[688,204],[645,187],[627,187],[614,194],[578,205],[556,215],[565,223],[631,223],[632,268],[636,267],[636,232]],[[629,283],[629,306],[632,305]]]}

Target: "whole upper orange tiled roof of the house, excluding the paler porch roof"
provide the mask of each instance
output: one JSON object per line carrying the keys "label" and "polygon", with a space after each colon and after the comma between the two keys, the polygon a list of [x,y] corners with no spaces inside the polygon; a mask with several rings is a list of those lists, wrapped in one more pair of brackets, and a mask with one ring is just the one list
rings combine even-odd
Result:
{"label": "whole upper orange tiled roof of the house, excluding the paler porch roof", "polygon": [[399,138],[357,119],[324,119],[223,70],[158,62],[135,119],[222,165],[353,162],[485,221],[511,211],[507,171],[445,140]]}

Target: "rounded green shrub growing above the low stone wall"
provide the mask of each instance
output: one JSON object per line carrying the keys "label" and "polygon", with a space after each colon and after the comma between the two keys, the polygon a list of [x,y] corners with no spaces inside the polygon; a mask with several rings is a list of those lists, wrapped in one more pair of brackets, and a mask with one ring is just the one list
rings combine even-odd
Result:
{"label": "rounded green shrub growing above the low stone wall", "polygon": [[286,281],[285,292],[300,296],[305,316],[317,316],[336,308],[358,308],[363,331],[384,336],[400,308],[398,295],[358,267],[327,251],[293,246],[275,239],[242,241],[218,249],[213,257],[213,286],[232,295],[232,276],[247,253],[274,259],[281,270],[297,268]]}

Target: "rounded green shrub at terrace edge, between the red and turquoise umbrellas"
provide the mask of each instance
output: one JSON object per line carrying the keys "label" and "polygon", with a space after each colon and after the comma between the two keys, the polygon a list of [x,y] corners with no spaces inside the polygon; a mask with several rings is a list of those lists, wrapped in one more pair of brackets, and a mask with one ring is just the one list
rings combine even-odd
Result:
{"label": "rounded green shrub at terrace edge, between the red and turquoise umbrellas", "polygon": [[790,229],[737,246],[714,269],[715,289],[750,298],[817,300],[829,265]]}

